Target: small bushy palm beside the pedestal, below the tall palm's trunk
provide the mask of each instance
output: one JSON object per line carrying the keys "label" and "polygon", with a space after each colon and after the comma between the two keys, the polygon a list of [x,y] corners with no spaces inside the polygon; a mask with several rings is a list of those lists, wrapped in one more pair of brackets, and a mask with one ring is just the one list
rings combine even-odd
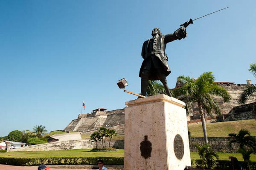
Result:
{"label": "small bushy palm beside the pedestal, below the tall palm's trunk", "polygon": [[219,155],[213,151],[212,146],[208,143],[204,143],[202,146],[195,144],[197,148],[197,153],[200,157],[201,166],[204,168],[211,168],[216,164],[216,159],[219,159]]}

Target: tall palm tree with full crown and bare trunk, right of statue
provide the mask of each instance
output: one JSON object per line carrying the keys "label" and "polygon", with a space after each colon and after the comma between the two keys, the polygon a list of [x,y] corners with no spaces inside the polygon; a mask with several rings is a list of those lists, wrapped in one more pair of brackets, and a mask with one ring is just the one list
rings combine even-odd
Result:
{"label": "tall palm tree with full crown and bare trunk, right of statue", "polygon": [[216,114],[221,114],[220,107],[212,96],[221,97],[224,102],[230,101],[231,97],[224,88],[214,83],[215,77],[212,72],[205,72],[197,79],[182,75],[178,77],[178,81],[181,81],[184,85],[175,89],[174,94],[180,96],[179,99],[186,103],[188,109],[191,108],[193,103],[198,105],[204,132],[204,142],[208,143],[204,110],[208,115],[212,115],[213,110]]}

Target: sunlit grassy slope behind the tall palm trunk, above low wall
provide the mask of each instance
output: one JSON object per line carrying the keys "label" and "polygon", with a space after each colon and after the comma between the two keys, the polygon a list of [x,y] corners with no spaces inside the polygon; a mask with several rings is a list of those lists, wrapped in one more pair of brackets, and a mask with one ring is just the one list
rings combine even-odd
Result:
{"label": "sunlit grassy slope behind the tall palm trunk, above low wall", "polygon": [[[188,125],[191,137],[203,137],[202,124]],[[208,137],[228,136],[230,133],[237,133],[245,128],[250,131],[252,136],[256,136],[256,120],[238,120],[230,122],[207,123]]]}

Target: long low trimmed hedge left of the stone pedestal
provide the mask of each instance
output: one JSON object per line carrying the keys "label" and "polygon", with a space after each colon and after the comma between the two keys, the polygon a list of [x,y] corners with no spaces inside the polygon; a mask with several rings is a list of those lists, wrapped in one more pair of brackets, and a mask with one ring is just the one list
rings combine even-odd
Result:
{"label": "long low trimmed hedge left of the stone pedestal", "polygon": [[124,157],[0,157],[0,164],[15,166],[47,165],[96,165],[98,160],[108,165],[124,165]]}

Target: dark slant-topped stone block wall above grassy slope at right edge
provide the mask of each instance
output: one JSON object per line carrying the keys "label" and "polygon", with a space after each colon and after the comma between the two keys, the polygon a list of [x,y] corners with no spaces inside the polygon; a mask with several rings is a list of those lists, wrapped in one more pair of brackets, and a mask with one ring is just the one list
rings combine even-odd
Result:
{"label": "dark slant-topped stone block wall above grassy slope at right edge", "polygon": [[223,121],[256,119],[256,103],[234,107]]}

